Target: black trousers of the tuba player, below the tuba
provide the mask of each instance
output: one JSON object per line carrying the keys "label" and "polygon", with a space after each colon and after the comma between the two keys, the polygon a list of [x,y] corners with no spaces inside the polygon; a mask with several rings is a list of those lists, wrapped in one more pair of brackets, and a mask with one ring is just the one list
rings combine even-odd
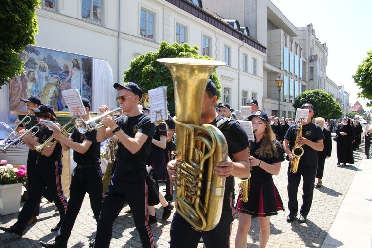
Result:
{"label": "black trousers of the tuba player, below the tuba", "polygon": [[171,224],[171,248],[196,248],[200,237],[206,248],[230,248],[230,234],[235,210],[232,197],[223,201],[221,219],[210,231],[197,231],[179,213],[175,213]]}

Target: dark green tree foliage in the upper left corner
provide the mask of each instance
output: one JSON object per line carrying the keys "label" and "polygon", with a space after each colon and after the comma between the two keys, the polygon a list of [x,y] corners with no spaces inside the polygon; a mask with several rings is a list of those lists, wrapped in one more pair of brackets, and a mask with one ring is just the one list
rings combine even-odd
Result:
{"label": "dark green tree foliage in the upper left corner", "polygon": [[0,8],[0,88],[24,71],[18,57],[27,45],[35,44],[38,23],[35,7],[40,0],[3,0]]}

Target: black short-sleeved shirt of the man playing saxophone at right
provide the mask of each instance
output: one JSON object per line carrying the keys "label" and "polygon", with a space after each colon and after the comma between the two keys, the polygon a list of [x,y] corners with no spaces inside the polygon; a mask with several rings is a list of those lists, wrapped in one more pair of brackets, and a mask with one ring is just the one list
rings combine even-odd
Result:
{"label": "black short-sleeved shirt of the man playing saxophone at right", "polygon": [[[284,137],[285,139],[290,141],[289,148],[291,150],[295,146],[296,134],[297,124],[291,125]],[[314,124],[312,122],[302,126],[302,136],[312,142],[317,142],[319,140],[324,139],[324,134],[323,131],[321,130],[321,127],[318,124]],[[318,163],[317,151],[308,145],[302,145],[302,148],[304,153],[300,158],[299,164],[303,164],[306,166],[317,166]]]}

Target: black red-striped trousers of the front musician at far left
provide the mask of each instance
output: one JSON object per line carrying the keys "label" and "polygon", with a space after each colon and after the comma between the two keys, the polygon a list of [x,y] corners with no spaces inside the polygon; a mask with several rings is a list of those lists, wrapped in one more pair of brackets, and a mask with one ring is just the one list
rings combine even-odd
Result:
{"label": "black red-striped trousers of the front musician at far left", "polygon": [[63,220],[67,210],[67,200],[62,190],[61,173],[61,160],[36,164],[33,183],[30,187],[30,192],[28,192],[28,200],[25,202],[22,211],[18,215],[17,222],[14,224],[19,230],[26,229],[36,206],[40,205],[40,197],[45,187],[51,193],[54,203],[61,214],[60,222]]}

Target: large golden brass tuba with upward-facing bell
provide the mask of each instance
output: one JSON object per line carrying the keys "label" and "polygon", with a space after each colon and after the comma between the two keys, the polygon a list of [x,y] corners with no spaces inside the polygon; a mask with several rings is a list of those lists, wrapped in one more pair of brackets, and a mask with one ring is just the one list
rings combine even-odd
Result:
{"label": "large golden brass tuba with upward-facing bell", "polygon": [[[225,63],[191,58],[157,61],[168,67],[175,89],[180,162],[176,168],[176,210],[196,230],[212,230],[221,218],[225,191],[225,178],[216,176],[214,167],[227,159],[228,148],[222,132],[210,124],[200,125],[200,118],[207,80],[216,67]],[[205,169],[207,178],[203,178]],[[203,180],[207,181],[206,189],[202,188]],[[205,200],[201,199],[202,192]]]}

